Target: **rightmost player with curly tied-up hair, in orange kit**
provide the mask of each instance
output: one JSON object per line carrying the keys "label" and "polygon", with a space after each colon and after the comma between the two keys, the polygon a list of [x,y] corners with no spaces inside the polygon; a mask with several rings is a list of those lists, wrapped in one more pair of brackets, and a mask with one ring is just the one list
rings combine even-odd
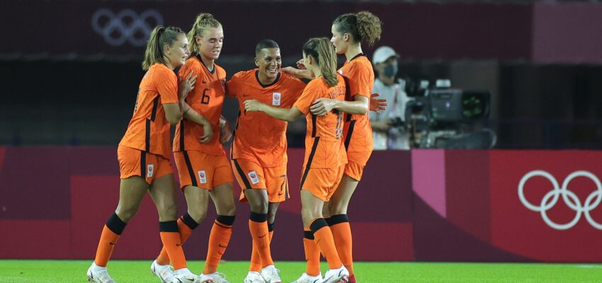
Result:
{"label": "rightmost player with curly tied-up hair, in orange kit", "polygon": [[[339,73],[348,78],[351,96],[346,101],[322,98],[316,101],[310,110],[314,115],[324,115],[331,110],[346,112],[344,143],[348,163],[343,179],[330,202],[324,207],[324,216],[332,229],[336,249],[351,276],[349,282],[355,282],[351,245],[351,226],[347,217],[347,207],[353,192],[362,178],[363,168],[373,150],[372,127],[368,110],[378,111],[386,106],[382,100],[370,100],[374,84],[374,71],[370,60],[362,52],[362,43],[373,45],[380,39],[380,19],[368,11],[347,13],[337,17],[332,23],[331,42],[337,54],[345,54],[346,62]],[[290,69],[297,76],[309,76],[308,71]],[[378,105],[370,105],[375,102]],[[313,282],[319,275],[319,251],[313,241],[304,240],[307,256],[307,270],[298,283]]]}

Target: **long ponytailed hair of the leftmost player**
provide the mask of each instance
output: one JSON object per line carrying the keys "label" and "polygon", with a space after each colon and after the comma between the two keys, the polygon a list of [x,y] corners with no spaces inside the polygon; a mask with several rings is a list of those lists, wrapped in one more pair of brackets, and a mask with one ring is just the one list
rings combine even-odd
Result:
{"label": "long ponytailed hair of the leftmost player", "polygon": [[163,54],[163,47],[165,45],[173,45],[178,40],[178,35],[181,34],[184,34],[181,28],[166,28],[163,25],[157,25],[149,36],[147,50],[144,52],[144,61],[142,61],[142,69],[147,71],[155,63],[167,64]]}

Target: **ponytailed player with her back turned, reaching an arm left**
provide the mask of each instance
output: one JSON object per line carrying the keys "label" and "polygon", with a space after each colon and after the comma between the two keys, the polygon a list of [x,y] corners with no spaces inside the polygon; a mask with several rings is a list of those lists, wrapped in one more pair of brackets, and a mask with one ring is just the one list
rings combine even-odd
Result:
{"label": "ponytailed player with her back turned, reaching an arm left", "polygon": [[310,81],[293,108],[274,108],[257,100],[246,100],[247,112],[261,111],[280,120],[293,121],[302,115],[307,119],[305,162],[301,179],[302,221],[328,261],[330,270],[324,275],[326,283],[346,282],[349,272],[336,253],[334,239],[322,217],[324,202],[328,202],[341,180],[347,162],[343,147],[343,115],[332,111],[322,116],[309,108],[318,98],[344,100],[346,83],[336,74],[336,54],[328,38],[312,38],[303,46],[305,67],[316,76]]}

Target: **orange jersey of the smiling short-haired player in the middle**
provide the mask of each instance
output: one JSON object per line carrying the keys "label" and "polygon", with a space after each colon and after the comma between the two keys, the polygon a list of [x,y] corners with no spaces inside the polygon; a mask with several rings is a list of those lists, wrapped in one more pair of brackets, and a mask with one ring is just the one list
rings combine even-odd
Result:
{"label": "orange jersey of the smiling short-haired player in the middle", "polygon": [[228,96],[239,102],[239,116],[234,130],[232,158],[255,161],[264,168],[286,163],[287,122],[263,112],[245,112],[244,101],[259,100],[278,108],[291,108],[305,88],[305,83],[280,72],[268,86],[259,82],[259,70],[241,71],[226,83]]}

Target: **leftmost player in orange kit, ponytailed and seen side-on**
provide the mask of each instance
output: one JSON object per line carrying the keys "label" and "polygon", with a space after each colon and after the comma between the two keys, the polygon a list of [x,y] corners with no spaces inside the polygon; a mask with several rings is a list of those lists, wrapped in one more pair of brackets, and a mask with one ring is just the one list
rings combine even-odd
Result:
{"label": "leftmost player in orange kit, ponytailed and seen side-on", "polygon": [[[120,168],[119,204],[106,222],[88,269],[92,282],[114,282],[106,265],[113,246],[136,214],[142,198],[149,192],[159,212],[161,242],[174,263],[178,282],[194,282],[196,276],[186,268],[181,236],[176,223],[174,175],[169,163],[169,125],[176,125],[190,110],[185,99],[194,88],[195,76],[188,74],[178,88],[174,68],[188,57],[188,40],[180,28],[157,26],[147,42],[142,78],[134,115],[117,150]],[[178,93],[179,92],[179,93]]]}

